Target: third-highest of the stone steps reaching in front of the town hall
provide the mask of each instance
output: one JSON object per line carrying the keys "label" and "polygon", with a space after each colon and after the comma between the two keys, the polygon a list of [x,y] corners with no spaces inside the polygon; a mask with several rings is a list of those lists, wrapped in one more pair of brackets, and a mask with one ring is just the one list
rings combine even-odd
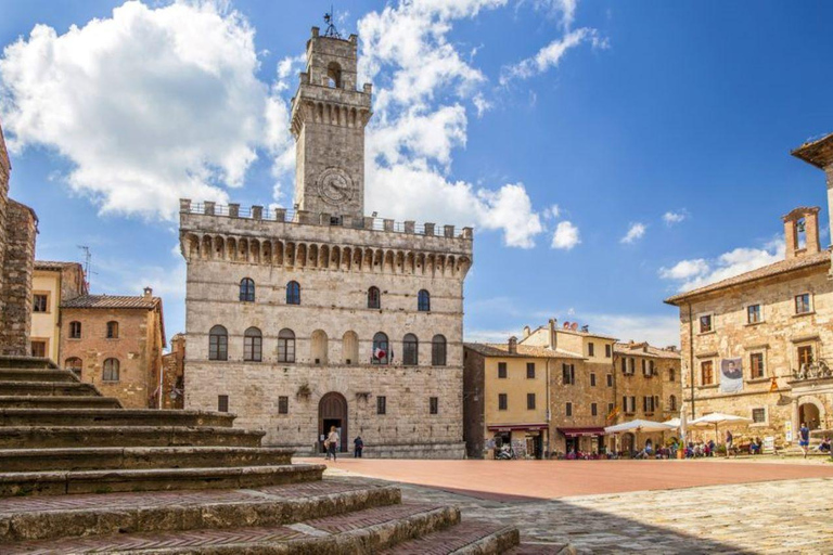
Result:
{"label": "third-highest of the stone steps reaching in front of the town hall", "polygon": [[98,447],[0,449],[4,473],[273,466],[292,463],[292,450],[253,447]]}

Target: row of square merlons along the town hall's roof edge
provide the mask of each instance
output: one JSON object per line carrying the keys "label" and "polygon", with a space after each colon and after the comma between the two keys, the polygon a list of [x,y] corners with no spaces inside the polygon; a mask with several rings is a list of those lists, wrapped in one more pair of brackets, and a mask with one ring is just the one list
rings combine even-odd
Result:
{"label": "row of square merlons along the town hall's roof edge", "polygon": [[397,222],[387,218],[372,216],[334,216],[331,214],[310,212],[307,210],[286,210],[285,208],[265,208],[262,206],[242,207],[239,204],[220,205],[209,201],[192,203],[188,198],[179,201],[180,214],[196,214],[204,216],[225,216],[253,221],[274,221],[298,223],[306,225],[338,225],[357,230],[383,231],[393,233],[409,233],[448,238],[474,237],[473,228],[462,228],[458,231],[454,225],[437,225],[436,223],[420,223],[415,221]]}

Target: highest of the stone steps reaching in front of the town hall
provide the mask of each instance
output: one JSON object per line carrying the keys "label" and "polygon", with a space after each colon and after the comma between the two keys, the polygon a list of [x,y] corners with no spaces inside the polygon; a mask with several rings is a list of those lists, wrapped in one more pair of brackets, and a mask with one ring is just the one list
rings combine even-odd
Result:
{"label": "highest of the stone steps reaching in front of the town hall", "polygon": [[216,426],[230,428],[234,414],[137,409],[2,409],[0,426]]}

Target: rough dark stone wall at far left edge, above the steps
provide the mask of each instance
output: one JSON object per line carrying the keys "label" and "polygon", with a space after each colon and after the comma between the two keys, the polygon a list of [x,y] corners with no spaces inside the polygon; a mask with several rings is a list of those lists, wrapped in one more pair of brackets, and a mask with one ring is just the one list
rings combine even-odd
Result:
{"label": "rough dark stone wall at far left edge, above the steps", "polygon": [[38,219],[27,206],[9,201],[5,215],[5,255],[2,278],[0,352],[28,354],[31,328],[31,278]]}

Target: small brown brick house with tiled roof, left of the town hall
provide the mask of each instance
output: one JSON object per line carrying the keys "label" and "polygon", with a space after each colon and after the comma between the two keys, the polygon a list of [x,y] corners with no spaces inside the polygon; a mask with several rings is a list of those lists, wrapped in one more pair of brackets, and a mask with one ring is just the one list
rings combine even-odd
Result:
{"label": "small brown brick house with tiled roof, left of the town hall", "polygon": [[159,406],[165,327],[162,299],[150,288],[136,297],[76,297],[63,302],[61,320],[65,367],[125,408]]}

